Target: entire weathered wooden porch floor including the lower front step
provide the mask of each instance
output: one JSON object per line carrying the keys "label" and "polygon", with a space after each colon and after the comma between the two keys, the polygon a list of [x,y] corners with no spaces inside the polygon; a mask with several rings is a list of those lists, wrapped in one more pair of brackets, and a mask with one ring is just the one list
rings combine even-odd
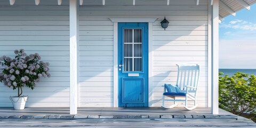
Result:
{"label": "entire weathered wooden porch floor including the lower front step", "polygon": [[256,127],[250,119],[211,108],[0,108],[0,127]]}

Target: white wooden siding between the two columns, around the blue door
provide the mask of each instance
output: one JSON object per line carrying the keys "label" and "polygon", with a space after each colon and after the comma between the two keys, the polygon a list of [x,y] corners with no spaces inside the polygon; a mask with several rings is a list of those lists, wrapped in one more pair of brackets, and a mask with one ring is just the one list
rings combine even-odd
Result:
{"label": "white wooden siding between the two columns, around the blue door", "polygon": [[[153,106],[162,105],[161,86],[175,84],[177,63],[201,65],[198,104],[207,106],[206,0],[198,6],[189,0],[187,5],[174,2],[177,5],[170,6],[107,5],[108,1],[98,6],[89,2],[79,7],[79,107],[113,107],[113,70],[117,69],[113,69],[114,27],[108,18],[129,17],[159,18],[153,23]],[[160,25],[164,16],[170,21],[165,31]]]}

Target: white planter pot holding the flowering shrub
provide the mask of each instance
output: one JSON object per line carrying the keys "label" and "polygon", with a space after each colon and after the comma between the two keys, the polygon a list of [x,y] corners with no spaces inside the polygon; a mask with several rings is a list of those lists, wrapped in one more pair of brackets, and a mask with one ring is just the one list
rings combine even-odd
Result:
{"label": "white planter pot holding the flowering shrub", "polygon": [[15,110],[21,110],[25,108],[28,96],[10,97],[10,100],[12,101],[12,105]]}

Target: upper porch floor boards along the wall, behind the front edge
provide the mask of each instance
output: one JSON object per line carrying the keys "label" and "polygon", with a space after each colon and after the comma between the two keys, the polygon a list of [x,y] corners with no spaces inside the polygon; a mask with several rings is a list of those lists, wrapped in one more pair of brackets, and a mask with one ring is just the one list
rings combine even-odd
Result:
{"label": "upper porch floor boards along the wall, behind the front edge", "polygon": [[[165,109],[162,107],[127,107],[127,108],[78,108],[77,115],[207,115],[211,108],[198,107],[186,110],[183,107]],[[220,110],[221,115],[229,115]],[[69,115],[69,108],[0,108],[0,115]]]}

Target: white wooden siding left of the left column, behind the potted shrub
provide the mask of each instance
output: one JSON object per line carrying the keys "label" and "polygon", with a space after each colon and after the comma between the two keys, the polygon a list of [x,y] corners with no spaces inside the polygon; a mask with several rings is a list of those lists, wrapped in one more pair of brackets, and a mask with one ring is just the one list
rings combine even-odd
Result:
{"label": "white wooden siding left of the left column, behind the potted shrub", "polygon": [[[27,54],[37,52],[43,61],[50,62],[51,77],[41,78],[34,90],[23,89],[22,95],[29,96],[26,107],[69,107],[67,2],[54,7],[47,6],[47,1],[38,6],[31,1],[15,4],[10,6],[9,1],[0,1],[0,56],[13,58],[15,49],[25,49]],[[12,107],[10,95],[17,95],[17,90],[0,83],[0,107]]]}

